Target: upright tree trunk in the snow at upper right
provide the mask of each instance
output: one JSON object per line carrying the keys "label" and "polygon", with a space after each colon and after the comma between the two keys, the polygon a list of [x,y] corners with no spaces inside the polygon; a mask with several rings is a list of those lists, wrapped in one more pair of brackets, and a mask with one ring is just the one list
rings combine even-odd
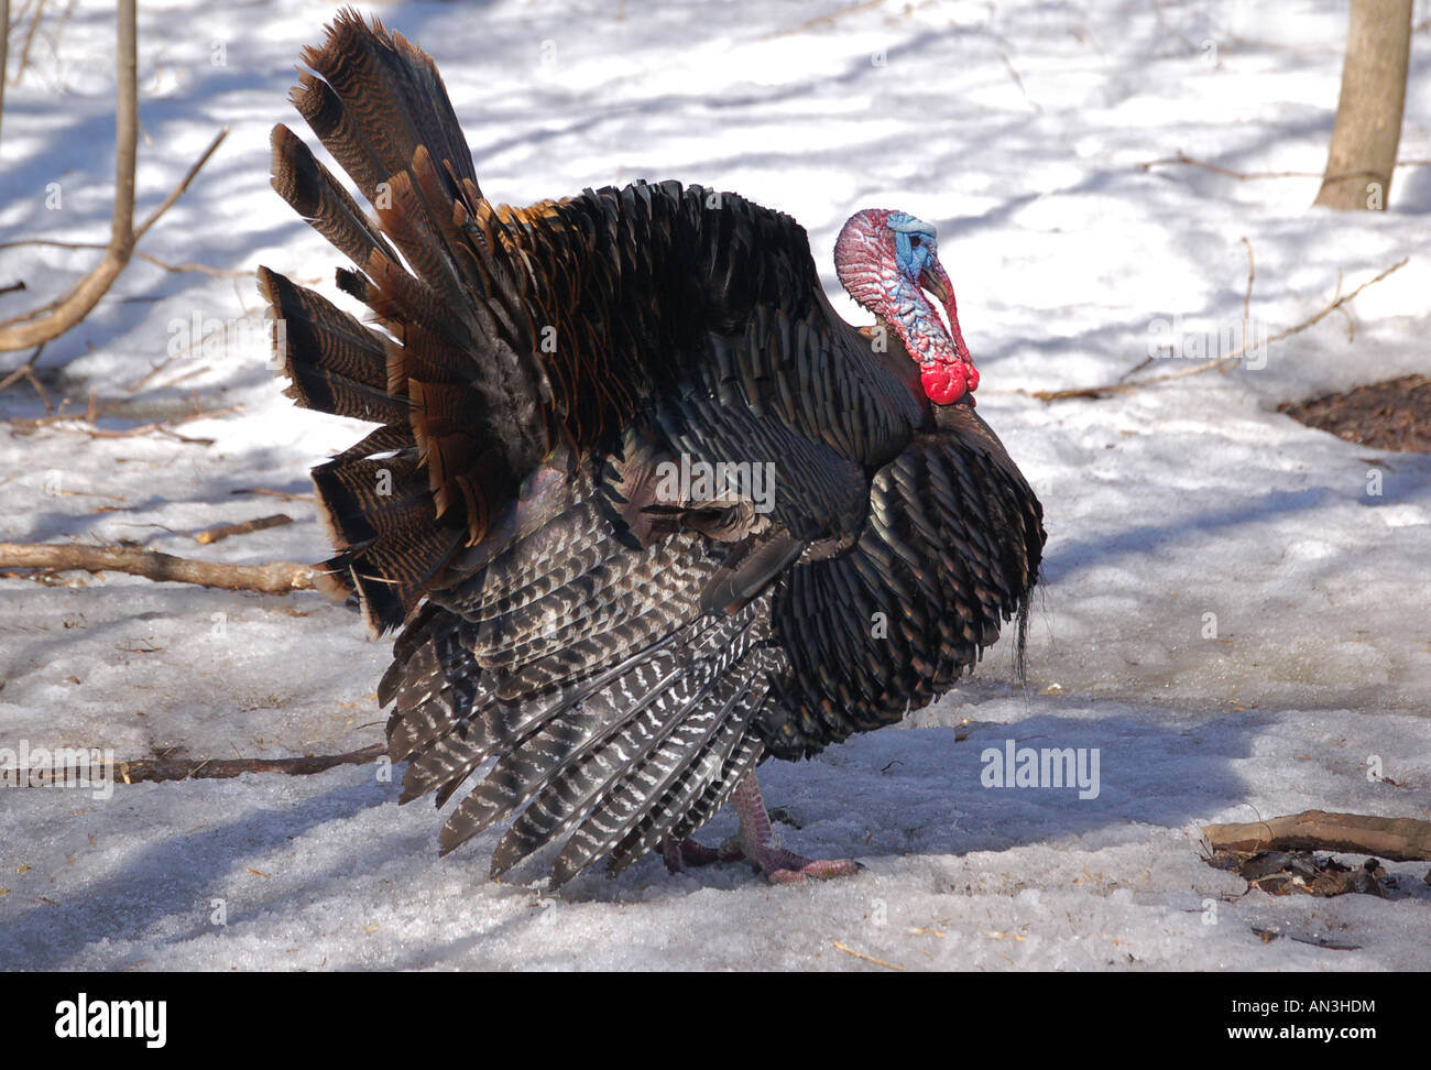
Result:
{"label": "upright tree trunk in the snow at upper right", "polygon": [[1341,99],[1317,203],[1335,209],[1387,205],[1407,99],[1412,0],[1351,0]]}

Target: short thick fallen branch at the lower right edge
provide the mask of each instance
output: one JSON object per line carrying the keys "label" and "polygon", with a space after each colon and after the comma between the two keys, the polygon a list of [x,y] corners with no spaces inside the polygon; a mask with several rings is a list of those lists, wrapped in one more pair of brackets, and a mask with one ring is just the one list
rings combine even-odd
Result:
{"label": "short thick fallen branch at the lower right edge", "polygon": [[1431,860],[1431,821],[1414,817],[1305,810],[1289,817],[1241,825],[1203,825],[1202,834],[1213,850],[1234,854],[1338,851],[1401,863]]}

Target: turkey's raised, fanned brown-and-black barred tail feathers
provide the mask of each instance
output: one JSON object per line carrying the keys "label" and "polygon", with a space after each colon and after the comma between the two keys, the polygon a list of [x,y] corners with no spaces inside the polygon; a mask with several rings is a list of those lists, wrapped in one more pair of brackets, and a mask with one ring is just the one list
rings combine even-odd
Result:
{"label": "turkey's raised, fanned brown-and-black barred tail feathers", "polygon": [[273,189],[352,260],[339,286],[378,326],[268,268],[259,286],[282,325],[289,396],[382,425],[316,482],[339,548],[328,564],[386,629],[552,452],[550,386],[509,242],[494,233],[432,60],[352,11],[303,60],[293,103],[376,220],[285,126],[272,137]]}

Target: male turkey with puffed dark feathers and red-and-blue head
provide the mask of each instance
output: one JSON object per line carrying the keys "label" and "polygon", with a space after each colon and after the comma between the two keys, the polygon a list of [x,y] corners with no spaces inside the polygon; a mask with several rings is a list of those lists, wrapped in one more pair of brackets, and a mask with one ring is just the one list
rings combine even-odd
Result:
{"label": "male turkey with puffed dark feathers and red-and-blue head", "polygon": [[[313,469],[328,562],[378,632],[402,801],[444,853],[515,814],[501,874],[565,838],[605,858],[714,853],[727,800],[771,880],[851,873],[770,831],[756,765],[899,721],[1017,617],[1042,509],[975,415],[934,230],[864,210],[836,243],[677,182],[492,205],[432,60],[345,11],[292,93],[376,212],[288,127],[273,187],[352,262],[366,326],[266,268],[288,395],[379,425]],[[942,319],[923,290],[937,296]]]}

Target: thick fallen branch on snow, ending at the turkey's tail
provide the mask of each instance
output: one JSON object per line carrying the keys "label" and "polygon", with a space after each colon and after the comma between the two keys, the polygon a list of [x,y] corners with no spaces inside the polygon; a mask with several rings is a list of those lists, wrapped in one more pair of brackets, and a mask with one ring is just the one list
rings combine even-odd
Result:
{"label": "thick fallen branch on snow, ending at the turkey's tail", "polygon": [[228,565],[193,561],[137,546],[86,546],[53,542],[0,542],[0,568],[50,571],[127,572],[156,582],[197,584],[223,591],[256,591],[286,595],[290,591],[325,589],[322,574],[296,561],[265,565]]}

